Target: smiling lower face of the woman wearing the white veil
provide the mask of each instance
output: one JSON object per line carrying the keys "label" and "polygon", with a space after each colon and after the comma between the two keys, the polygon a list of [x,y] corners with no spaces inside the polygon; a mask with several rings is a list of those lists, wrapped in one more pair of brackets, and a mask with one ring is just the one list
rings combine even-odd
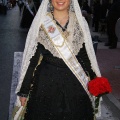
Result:
{"label": "smiling lower face of the woman wearing the white veil", "polygon": [[70,0],[51,0],[54,9],[63,11],[68,10],[70,6]]}

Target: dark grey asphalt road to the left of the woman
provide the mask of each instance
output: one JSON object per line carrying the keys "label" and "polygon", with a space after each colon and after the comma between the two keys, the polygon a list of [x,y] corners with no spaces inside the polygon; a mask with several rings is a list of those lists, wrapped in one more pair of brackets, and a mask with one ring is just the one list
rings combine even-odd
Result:
{"label": "dark grey asphalt road to the left of the woman", "polygon": [[23,52],[27,34],[20,19],[17,6],[0,14],[0,120],[8,120],[14,52]]}

